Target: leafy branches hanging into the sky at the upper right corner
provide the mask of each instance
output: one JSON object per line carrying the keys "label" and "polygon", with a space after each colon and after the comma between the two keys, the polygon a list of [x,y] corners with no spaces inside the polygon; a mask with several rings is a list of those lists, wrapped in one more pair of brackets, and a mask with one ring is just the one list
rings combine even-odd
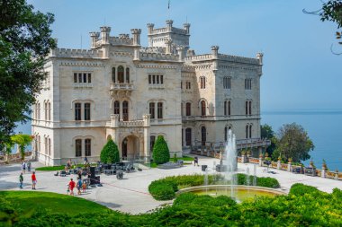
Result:
{"label": "leafy branches hanging into the sky at the upper right corner", "polygon": [[[338,25],[338,29],[342,28],[342,0],[329,0],[326,3],[323,3],[322,8],[314,12],[308,12],[305,9],[302,11],[304,13],[319,15],[320,21],[335,22]],[[336,39],[341,39],[341,37],[342,31],[336,31]],[[342,45],[342,41],[339,41],[338,44]],[[338,55],[340,54],[342,53],[339,53]]]}

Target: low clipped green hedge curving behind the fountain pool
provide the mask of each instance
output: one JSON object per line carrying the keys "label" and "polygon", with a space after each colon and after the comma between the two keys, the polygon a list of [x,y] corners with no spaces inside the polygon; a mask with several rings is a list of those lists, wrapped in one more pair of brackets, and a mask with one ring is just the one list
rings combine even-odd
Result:
{"label": "low clipped green hedge curving behind the fountain pool", "polygon": [[[247,176],[242,173],[237,174],[238,185],[247,185]],[[223,176],[220,174],[208,175],[208,184],[225,184]],[[253,177],[250,176],[250,181],[253,182]],[[201,174],[182,175],[166,177],[165,179],[157,179],[153,181],[149,187],[149,193],[157,200],[169,200],[175,198],[175,192],[181,188],[190,188],[202,186],[204,184],[204,176]],[[257,186],[266,188],[279,188],[277,179],[272,178],[257,178]],[[171,192],[173,191],[173,192]],[[167,195],[167,193],[170,193]]]}

